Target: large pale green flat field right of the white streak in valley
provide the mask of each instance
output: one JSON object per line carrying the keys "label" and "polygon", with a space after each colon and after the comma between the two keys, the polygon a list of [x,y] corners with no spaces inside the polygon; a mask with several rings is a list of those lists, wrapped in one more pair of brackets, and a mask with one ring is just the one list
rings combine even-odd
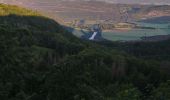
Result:
{"label": "large pale green flat field right of the white streak in valley", "polygon": [[113,31],[113,32],[103,32],[103,37],[112,41],[129,41],[129,40],[140,40],[141,37],[149,37],[156,35],[167,35],[170,30],[163,29],[133,29],[128,31]]}

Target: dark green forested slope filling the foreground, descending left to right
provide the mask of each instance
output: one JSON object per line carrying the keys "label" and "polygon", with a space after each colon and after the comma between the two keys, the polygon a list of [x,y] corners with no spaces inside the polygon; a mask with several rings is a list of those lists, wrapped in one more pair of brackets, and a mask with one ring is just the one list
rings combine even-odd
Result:
{"label": "dark green forested slope filling the foreground, descending left to right", "polygon": [[0,100],[170,99],[160,61],[79,40],[39,14],[11,14],[0,16]]}

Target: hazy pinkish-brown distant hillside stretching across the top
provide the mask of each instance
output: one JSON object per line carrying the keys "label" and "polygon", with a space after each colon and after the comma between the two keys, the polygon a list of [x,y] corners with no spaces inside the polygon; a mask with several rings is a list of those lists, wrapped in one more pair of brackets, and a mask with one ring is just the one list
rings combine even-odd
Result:
{"label": "hazy pinkish-brown distant hillside stretching across the top", "polygon": [[53,17],[58,16],[66,23],[74,23],[74,21],[82,19],[117,23],[170,16],[170,6],[168,5],[113,4],[80,0],[9,1],[6,2],[46,12]]}

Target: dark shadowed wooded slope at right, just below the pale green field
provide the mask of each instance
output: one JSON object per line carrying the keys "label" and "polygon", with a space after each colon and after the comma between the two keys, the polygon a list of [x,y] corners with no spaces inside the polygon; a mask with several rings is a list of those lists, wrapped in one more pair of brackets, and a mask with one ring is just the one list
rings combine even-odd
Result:
{"label": "dark shadowed wooded slope at right, just below the pale green field", "polygon": [[170,60],[170,39],[157,42],[102,42],[100,44],[127,52],[142,59]]}

